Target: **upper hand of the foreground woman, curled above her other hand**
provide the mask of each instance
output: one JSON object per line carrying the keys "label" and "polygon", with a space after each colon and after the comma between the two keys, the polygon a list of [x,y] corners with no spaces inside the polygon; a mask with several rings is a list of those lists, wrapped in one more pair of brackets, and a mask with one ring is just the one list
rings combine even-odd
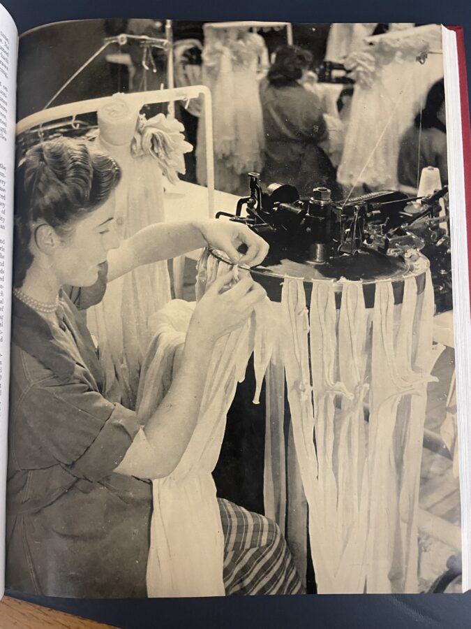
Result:
{"label": "upper hand of the foreground woman, curled above her other hand", "polygon": [[[268,243],[243,223],[214,219],[199,226],[208,245],[223,251],[235,264],[257,266],[267,256]],[[247,247],[245,254],[237,251],[241,245]]]}

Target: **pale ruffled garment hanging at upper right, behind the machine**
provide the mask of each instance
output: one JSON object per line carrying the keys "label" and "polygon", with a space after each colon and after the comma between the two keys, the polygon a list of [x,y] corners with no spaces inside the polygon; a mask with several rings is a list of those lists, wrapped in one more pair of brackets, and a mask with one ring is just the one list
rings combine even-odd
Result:
{"label": "pale ruffled garment hanging at upper right, behind the machine", "polygon": [[405,41],[384,40],[346,60],[357,81],[338,167],[338,181],[347,191],[363,185],[373,190],[398,186],[401,137],[423,108],[428,89],[443,77],[442,55],[417,62],[417,56],[428,50],[442,50],[439,26],[426,37],[417,35],[417,41],[412,35]]}

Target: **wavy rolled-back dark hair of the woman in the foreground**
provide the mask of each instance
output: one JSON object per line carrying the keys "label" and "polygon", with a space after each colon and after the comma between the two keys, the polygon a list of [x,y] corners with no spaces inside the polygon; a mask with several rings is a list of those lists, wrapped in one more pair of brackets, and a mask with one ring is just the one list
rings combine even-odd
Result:
{"label": "wavy rolled-back dark hair of the woman in the foreground", "polygon": [[31,224],[44,221],[66,236],[105,203],[120,178],[117,162],[87,140],[55,138],[28,150],[15,175],[14,287],[22,286],[33,261]]}

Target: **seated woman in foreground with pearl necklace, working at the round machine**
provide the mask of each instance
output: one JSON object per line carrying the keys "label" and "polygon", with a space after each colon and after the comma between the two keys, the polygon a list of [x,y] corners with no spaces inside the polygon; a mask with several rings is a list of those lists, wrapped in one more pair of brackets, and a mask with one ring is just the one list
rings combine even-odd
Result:
{"label": "seated woman in foreground with pearl necklace, working at the round machine", "polygon": [[[65,138],[33,147],[17,173],[6,578],[18,591],[146,596],[147,479],[169,475],[186,449],[215,340],[264,298],[250,277],[230,289],[231,273],[214,282],[195,308],[182,366],[145,426],[105,399],[77,308],[98,303],[106,281],[207,243],[249,266],[267,254],[263,240],[231,222],[151,225],[119,243],[119,178],[112,158]],[[227,594],[300,591],[274,523],[219,505]]]}

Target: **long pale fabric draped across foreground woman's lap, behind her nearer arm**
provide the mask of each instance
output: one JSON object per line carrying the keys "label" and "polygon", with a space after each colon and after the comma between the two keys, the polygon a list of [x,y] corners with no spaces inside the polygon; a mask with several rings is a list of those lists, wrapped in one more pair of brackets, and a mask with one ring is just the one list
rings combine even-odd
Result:
{"label": "long pale fabric draped across foreground woman's lap, behind her nearer arm", "polygon": [[[207,279],[218,275],[209,261]],[[213,273],[215,271],[216,273]],[[219,273],[223,272],[221,267]],[[268,330],[273,321],[271,303],[261,304],[244,326],[220,338],[214,347],[195,431],[177,468],[153,481],[154,511],[147,564],[147,591],[156,596],[224,595],[224,537],[211,476],[225,431],[225,417],[238,382],[255,351],[258,373],[268,363]],[[193,305],[174,300],[153,318],[154,340],[149,346],[141,376],[137,408],[144,423],[165,396],[179,368],[181,350]],[[204,566],[204,570],[202,570]]]}

